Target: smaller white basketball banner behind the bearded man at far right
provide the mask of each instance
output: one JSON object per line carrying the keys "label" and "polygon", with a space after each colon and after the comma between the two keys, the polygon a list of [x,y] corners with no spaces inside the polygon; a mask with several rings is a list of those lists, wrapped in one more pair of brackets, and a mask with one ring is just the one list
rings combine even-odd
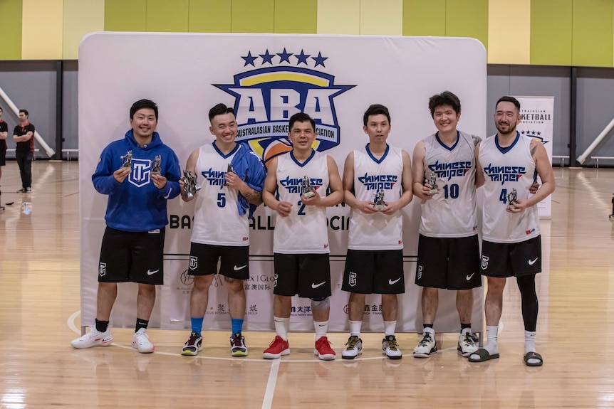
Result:
{"label": "smaller white basketball banner behind the bearded man at far right", "polygon": [[[518,132],[541,139],[552,164],[554,97],[515,97],[520,102],[522,121],[516,127]],[[538,178],[541,184],[541,179]],[[551,218],[552,196],[537,204],[539,217]]]}

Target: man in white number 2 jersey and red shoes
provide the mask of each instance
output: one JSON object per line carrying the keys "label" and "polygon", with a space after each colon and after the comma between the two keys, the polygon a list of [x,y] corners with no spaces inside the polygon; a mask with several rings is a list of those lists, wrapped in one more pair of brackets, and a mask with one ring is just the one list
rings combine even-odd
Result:
{"label": "man in white number 2 jersey and red shoes", "polygon": [[326,208],[343,201],[343,184],[335,160],[313,150],[316,122],[298,112],[290,118],[288,129],[292,151],[271,160],[262,192],[266,206],[279,215],[273,239],[276,336],[262,356],[276,359],[290,354],[291,297],[298,294],[311,299],[316,329],[313,353],[330,361],[335,351],[326,336],[331,310]]}

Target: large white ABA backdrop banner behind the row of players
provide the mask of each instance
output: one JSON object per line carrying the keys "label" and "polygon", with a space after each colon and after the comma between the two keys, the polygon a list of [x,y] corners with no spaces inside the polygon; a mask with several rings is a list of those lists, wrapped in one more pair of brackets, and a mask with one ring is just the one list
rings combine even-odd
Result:
{"label": "large white ABA backdrop banner behind the row of players", "polygon": [[[212,142],[207,112],[218,102],[234,106],[239,138],[264,159],[288,149],[288,118],[297,111],[316,119],[318,150],[343,170],[345,156],[368,142],[363,112],[373,103],[392,116],[388,142],[410,155],[435,132],[427,102],[451,90],[462,100],[460,129],[485,136],[486,53],[469,38],[301,36],[252,34],[95,33],[79,54],[79,146],[81,212],[81,322],[95,318],[98,255],[105,228],[106,198],[91,181],[98,156],[129,128],[132,102],[150,98],[160,107],[157,131],[184,166],[187,156]],[[280,139],[281,137],[281,139]],[[422,329],[420,287],[414,284],[420,203],[404,211],[406,292],[400,297],[397,329]],[[192,202],[193,203],[193,202]],[[158,291],[152,327],[189,328],[186,274],[192,203],[169,203],[165,285]],[[328,209],[333,296],[331,330],[348,329],[348,293],[340,290],[349,208]],[[260,206],[251,221],[250,279],[246,328],[272,330],[274,214]],[[437,255],[434,255],[437,257]],[[336,284],[336,285],[335,285]],[[135,322],[136,285],[120,285],[113,326]],[[435,325],[457,331],[456,294],[442,290]],[[482,288],[475,290],[474,331],[482,330]],[[365,331],[382,331],[380,296],[367,297]],[[209,294],[205,329],[230,329],[224,280]],[[313,330],[308,299],[293,299],[292,330]]]}

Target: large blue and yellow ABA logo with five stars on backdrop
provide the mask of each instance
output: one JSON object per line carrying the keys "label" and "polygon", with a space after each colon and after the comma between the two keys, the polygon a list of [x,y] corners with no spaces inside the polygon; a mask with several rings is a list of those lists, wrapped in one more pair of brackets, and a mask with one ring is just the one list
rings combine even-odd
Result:
{"label": "large blue and yellow ABA logo with five stars on backdrop", "polygon": [[292,149],[287,139],[288,119],[297,112],[305,112],[316,122],[315,149],[326,151],[339,144],[333,98],[355,85],[336,85],[334,75],[321,71],[328,57],[321,52],[311,55],[304,50],[288,53],[286,48],[281,53],[267,49],[264,54],[251,55],[249,51],[241,58],[244,67],[253,69],[234,75],[233,84],[214,84],[235,97],[236,140],[248,142],[265,164]]}

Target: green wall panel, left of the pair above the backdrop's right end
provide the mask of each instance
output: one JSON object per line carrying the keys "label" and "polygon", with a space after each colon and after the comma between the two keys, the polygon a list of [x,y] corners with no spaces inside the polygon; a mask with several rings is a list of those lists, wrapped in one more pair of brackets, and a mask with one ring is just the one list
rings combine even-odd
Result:
{"label": "green wall panel, left of the pair above the backdrop's right end", "polygon": [[445,36],[446,0],[403,0],[403,36]]}

